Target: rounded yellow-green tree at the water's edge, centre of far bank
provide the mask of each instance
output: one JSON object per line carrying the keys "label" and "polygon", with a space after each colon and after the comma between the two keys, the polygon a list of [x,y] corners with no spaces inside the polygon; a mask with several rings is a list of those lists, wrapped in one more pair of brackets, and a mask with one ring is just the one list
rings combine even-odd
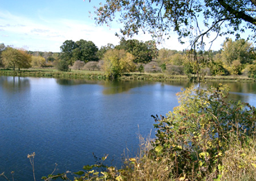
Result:
{"label": "rounded yellow-green tree at the water's edge, centre of far bank", "polygon": [[104,54],[104,72],[107,77],[116,79],[122,73],[128,73],[136,70],[134,56],[125,50],[108,50]]}

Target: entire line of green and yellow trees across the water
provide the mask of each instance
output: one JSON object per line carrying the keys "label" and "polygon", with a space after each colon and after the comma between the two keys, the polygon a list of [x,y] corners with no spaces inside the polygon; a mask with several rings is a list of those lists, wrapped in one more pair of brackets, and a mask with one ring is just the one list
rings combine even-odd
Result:
{"label": "entire line of green and yellow trees across the water", "polygon": [[[226,39],[221,50],[196,51],[156,48],[155,41],[121,39],[120,44],[98,48],[92,41],[66,40],[60,53],[26,51],[0,44],[0,65],[6,68],[51,68],[62,71],[104,70],[111,78],[122,73],[167,73],[170,75],[247,75],[256,78],[255,47],[245,39]],[[200,65],[197,61],[200,59]]]}

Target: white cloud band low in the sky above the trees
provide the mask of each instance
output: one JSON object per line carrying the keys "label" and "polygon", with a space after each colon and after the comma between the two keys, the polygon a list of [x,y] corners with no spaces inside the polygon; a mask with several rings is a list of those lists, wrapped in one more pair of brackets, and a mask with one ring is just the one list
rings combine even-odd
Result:
{"label": "white cloud band low in the sky above the trees", "polygon": [[[95,27],[93,20],[89,19],[84,21],[75,19],[49,19],[42,17],[42,15],[40,17],[28,18],[0,10],[0,24],[0,36],[4,37],[1,40],[4,44],[12,44],[16,47],[28,46],[29,50],[57,52],[60,51],[60,46],[62,46],[63,42],[69,39],[73,41],[80,39],[93,41],[98,48],[109,43],[117,45],[120,41],[115,36],[115,33],[119,32],[118,28]],[[174,50],[190,48],[189,44],[180,44],[176,34],[173,33],[172,35],[171,39],[163,41],[163,44],[158,46],[158,48],[164,47]],[[133,38],[141,41],[152,39],[150,35],[143,33]],[[214,42],[214,45],[219,47],[223,40],[217,40],[217,42]]]}

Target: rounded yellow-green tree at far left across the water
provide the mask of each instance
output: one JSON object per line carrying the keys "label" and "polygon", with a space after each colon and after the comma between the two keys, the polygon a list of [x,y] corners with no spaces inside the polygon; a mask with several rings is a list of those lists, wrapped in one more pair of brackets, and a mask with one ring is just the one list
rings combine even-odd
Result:
{"label": "rounded yellow-green tree at far left across the water", "polygon": [[8,68],[12,68],[12,70],[15,70],[15,68],[19,68],[20,70],[20,68],[31,67],[31,55],[28,55],[24,50],[8,47],[1,53],[1,56],[3,58],[3,64]]}

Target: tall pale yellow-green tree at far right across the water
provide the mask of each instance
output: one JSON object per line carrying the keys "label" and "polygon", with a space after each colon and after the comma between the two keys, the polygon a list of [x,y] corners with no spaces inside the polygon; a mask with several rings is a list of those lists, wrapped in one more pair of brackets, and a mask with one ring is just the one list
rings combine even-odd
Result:
{"label": "tall pale yellow-green tree at far right across the water", "polygon": [[223,62],[228,66],[231,66],[232,61],[235,60],[239,60],[241,64],[251,64],[255,59],[254,49],[253,44],[244,39],[237,41],[227,39],[223,43],[221,56]]}

